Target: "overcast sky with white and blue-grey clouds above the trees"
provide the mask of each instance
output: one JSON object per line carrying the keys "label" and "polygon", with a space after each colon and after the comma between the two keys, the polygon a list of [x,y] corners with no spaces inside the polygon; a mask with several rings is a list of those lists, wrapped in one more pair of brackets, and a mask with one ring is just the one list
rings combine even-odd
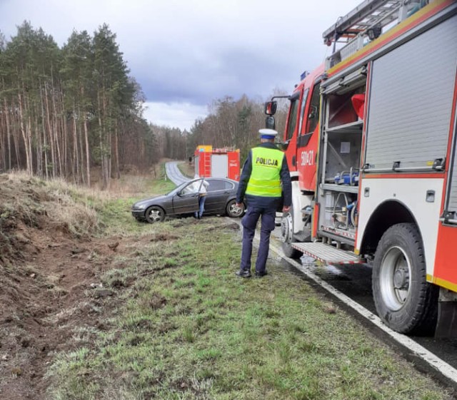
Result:
{"label": "overcast sky with white and blue-grey clouds above the trees", "polygon": [[147,99],[146,119],[190,129],[211,101],[288,91],[330,54],[322,32],[361,0],[0,0],[0,31],[24,20],[64,45],[109,24]]}

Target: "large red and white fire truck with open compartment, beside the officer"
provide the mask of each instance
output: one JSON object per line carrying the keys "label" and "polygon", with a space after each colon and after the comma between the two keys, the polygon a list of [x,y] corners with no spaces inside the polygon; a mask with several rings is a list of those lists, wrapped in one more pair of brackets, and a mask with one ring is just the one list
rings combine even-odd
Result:
{"label": "large red and white fire truck with open compartment, beside the officer", "polygon": [[456,337],[457,2],[365,0],[323,40],[333,54],[289,96],[283,251],[370,262],[388,327]]}

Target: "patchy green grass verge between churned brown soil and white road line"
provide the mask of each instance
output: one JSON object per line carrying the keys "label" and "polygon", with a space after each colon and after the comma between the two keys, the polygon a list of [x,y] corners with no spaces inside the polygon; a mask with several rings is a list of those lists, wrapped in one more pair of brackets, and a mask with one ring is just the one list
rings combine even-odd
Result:
{"label": "patchy green grass verge between churned brown soil and white road line", "polygon": [[56,357],[49,399],[451,399],[276,260],[236,278],[233,222],[128,224],[111,318]]}

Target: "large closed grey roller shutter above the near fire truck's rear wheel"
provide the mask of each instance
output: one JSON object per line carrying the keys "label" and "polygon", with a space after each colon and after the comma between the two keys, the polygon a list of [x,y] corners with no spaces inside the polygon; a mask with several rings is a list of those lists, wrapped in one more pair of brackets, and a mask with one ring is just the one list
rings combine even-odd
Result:
{"label": "large closed grey roller shutter above the near fire truck's rear wheel", "polygon": [[369,168],[391,169],[397,162],[403,168],[430,168],[433,160],[446,157],[456,37],[453,16],[373,61],[366,128]]}

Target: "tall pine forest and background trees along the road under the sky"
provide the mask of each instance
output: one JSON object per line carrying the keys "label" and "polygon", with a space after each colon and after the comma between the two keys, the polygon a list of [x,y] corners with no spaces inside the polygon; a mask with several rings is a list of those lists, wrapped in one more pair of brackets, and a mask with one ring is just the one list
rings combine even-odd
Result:
{"label": "tall pine forest and background trees along the road under the sky", "polygon": [[[209,99],[208,116],[190,132],[149,123],[144,93],[129,73],[106,24],[92,36],[73,31],[61,47],[28,21],[10,39],[0,32],[0,172],[97,181],[104,189],[126,168],[184,160],[197,145],[239,148],[243,158],[265,126],[267,99],[246,95]],[[285,108],[276,116],[280,131]]]}

